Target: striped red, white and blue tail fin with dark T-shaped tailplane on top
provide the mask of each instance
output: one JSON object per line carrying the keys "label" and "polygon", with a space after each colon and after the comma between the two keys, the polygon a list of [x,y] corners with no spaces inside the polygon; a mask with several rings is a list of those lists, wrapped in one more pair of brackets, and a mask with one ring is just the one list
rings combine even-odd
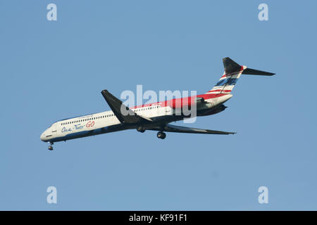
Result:
{"label": "striped red, white and blue tail fin with dark T-shaped tailplane on top", "polygon": [[223,58],[223,67],[225,68],[223,76],[220,77],[218,83],[207,94],[230,94],[241,75],[275,75],[271,72],[249,69],[245,65],[235,63],[229,57]]}

